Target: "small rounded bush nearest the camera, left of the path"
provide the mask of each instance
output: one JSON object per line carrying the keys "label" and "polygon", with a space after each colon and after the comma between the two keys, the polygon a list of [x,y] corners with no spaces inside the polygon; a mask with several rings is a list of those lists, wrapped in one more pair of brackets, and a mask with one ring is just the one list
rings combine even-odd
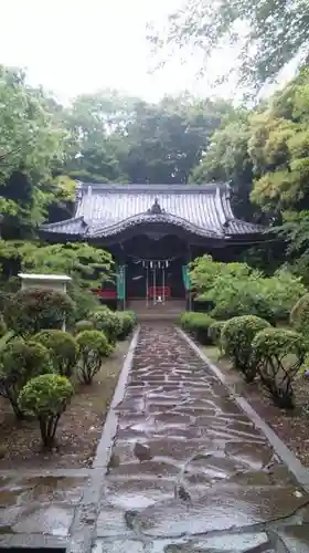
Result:
{"label": "small rounded bush nearest the camera, left of the path", "polygon": [[32,378],[19,395],[19,408],[35,415],[40,424],[43,445],[54,445],[61,415],[73,396],[73,387],[65,376],[41,375]]}

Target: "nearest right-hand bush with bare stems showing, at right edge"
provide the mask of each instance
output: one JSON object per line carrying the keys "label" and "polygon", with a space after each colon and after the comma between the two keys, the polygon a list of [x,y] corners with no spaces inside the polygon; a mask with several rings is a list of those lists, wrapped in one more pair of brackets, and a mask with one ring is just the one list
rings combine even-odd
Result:
{"label": "nearest right-hand bush with bare stems showing, at right edge", "polygon": [[291,384],[306,358],[306,343],[301,334],[266,328],[255,336],[252,349],[262,383],[275,404],[292,408],[295,399]]}

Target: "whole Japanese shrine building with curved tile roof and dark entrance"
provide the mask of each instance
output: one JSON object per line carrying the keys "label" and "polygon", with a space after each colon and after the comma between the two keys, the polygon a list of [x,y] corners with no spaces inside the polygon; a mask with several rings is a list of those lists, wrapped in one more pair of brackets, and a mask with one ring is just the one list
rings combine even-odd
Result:
{"label": "whole Japanese shrine building with curved tile roof and dark entrance", "polygon": [[117,282],[99,294],[130,306],[188,298],[188,263],[210,253],[233,261],[262,229],[234,217],[227,184],[79,184],[75,216],[43,225],[47,241],[87,241],[108,250]]}

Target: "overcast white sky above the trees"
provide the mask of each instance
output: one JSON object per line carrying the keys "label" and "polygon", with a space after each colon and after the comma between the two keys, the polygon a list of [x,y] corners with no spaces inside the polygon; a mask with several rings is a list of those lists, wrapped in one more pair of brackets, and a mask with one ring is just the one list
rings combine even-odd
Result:
{"label": "overcast white sky above the trees", "polygon": [[[146,23],[182,0],[1,0],[0,63],[26,67],[62,100],[111,87],[157,101],[183,90],[206,96],[198,61],[149,74]],[[224,60],[224,59],[223,59]],[[223,63],[223,60],[219,60]],[[225,62],[226,63],[226,62]]]}

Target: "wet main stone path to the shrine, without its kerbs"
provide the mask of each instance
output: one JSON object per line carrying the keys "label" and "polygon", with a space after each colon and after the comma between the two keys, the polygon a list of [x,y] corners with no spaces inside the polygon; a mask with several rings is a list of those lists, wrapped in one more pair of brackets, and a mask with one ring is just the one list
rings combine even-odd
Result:
{"label": "wet main stone path to the shrine, without its kerbs", "polygon": [[95,553],[308,553],[309,497],[172,327],[142,327]]}

